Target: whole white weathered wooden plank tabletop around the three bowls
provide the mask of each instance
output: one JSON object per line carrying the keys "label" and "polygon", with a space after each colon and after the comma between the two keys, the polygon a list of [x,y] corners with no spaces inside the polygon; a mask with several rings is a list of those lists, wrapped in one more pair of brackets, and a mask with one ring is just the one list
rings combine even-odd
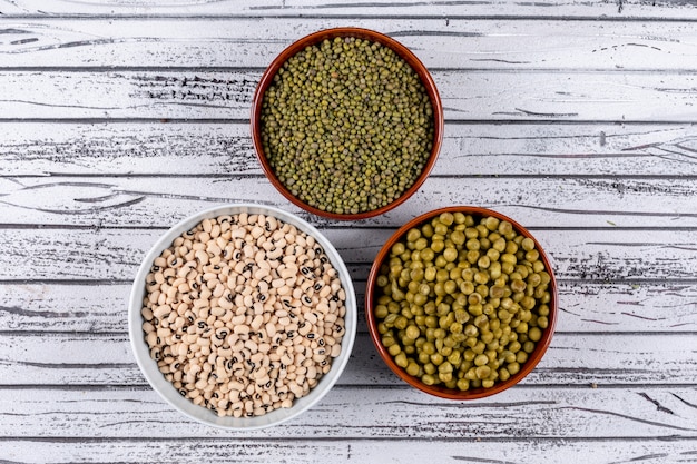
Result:
{"label": "whole white weathered wooden plank tabletop around the three bowls", "polygon": [[[522,384],[455,403],[401,383],[361,318],[316,407],[209,428],[140,374],[130,284],[195,211],[301,213],[259,169],[251,97],[283,48],[335,26],[412,48],[446,109],[404,205],[305,215],[360,298],[400,225],[485,206],[552,256],[558,332]],[[0,462],[697,462],[696,125],[694,1],[0,0]]]}

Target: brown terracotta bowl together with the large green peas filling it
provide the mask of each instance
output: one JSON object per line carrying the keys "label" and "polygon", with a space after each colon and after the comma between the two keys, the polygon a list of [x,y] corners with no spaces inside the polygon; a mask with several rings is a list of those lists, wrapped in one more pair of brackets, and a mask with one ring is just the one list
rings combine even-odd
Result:
{"label": "brown terracotta bowl together with the large green peas filling it", "polygon": [[557,283],[536,238],[478,207],[436,209],[381,248],[365,289],[371,338],[422,392],[475,399],[519,383],[557,322]]}

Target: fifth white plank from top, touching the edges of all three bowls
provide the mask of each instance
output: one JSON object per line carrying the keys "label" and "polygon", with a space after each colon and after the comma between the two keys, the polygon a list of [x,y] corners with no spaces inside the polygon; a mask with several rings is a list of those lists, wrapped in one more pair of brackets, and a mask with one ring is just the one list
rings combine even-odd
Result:
{"label": "fifth white plank from top, touching the edges of all three bowls", "polygon": [[[321,227],[348,226],[291,206],[258,175],[0,177],[0,221],[17,226],[167,228],[215,205],[259,201]],[[697,184],[679,176],[431,176],[404,204],[361,227],[396,229],[452,205],[495,209],[531,228],[695,227],[696,199]]]}

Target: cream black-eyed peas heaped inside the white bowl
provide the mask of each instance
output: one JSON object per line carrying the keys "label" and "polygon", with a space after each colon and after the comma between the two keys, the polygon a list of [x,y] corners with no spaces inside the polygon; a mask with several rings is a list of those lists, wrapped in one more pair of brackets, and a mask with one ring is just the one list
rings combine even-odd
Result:
{"label": "cream black-eyed peas heaped inside the white bowl", "polygon": [[220,416],[258,416],[291,407],[328,373],[345,298],[311,235],[273,216],[220,216],[155,259],[143,330],[183,396]]}

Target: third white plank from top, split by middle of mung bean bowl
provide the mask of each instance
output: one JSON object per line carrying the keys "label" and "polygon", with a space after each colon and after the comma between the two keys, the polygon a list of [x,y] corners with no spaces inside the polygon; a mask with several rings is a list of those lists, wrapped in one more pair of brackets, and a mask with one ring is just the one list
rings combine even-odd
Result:
{"label": "third white plank from top, split by middle of mung bean bowl", "polygon": [[[248,119],[261,71],[0,72],[12,118]],[[694,122],[694,72],[433,71],[455,120]]]}

